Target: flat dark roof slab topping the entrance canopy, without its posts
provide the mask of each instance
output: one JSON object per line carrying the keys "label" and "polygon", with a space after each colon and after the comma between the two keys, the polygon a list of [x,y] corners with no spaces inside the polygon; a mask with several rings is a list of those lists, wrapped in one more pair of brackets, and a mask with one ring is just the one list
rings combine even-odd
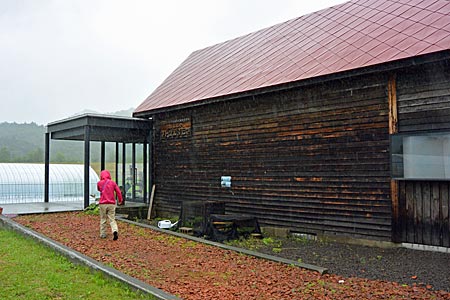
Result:
{"label": "flat dark roof slab topping the entrance canopy, without its posts", "polygon": [[83,114],[47,124],[47,133],[54,140],[82,141],[86,128],[89,128],[90,141],[140,143],[146,141],[152,122],[142,118]]}

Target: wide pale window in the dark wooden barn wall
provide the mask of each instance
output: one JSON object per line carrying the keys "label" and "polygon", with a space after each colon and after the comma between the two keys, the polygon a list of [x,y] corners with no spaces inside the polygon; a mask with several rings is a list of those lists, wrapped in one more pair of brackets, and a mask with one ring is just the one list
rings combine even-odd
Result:
{"label": "wide pale window in the dark wooden barn wall", "polygon": [[391,137],[393,179],[450,179],[450,132]]}

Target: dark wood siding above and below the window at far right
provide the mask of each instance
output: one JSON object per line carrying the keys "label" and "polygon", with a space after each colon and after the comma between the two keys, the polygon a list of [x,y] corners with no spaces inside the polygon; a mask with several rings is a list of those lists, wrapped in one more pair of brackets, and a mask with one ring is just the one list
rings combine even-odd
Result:
{"label": "dark wood siding above and below the window at far right", "polygon": [[[450,63],[444,61],[397,74],[399,132],[450,129]],[[401,181],[403,242],[450,247],[449,183]]]}

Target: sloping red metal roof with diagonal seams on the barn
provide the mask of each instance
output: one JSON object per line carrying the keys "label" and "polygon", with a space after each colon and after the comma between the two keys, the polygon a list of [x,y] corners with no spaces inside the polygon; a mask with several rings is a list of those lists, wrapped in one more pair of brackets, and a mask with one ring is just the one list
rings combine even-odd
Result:
{"label": "sloping red metal roof with diagonal seams on the barn", "polygon": [[135,110],[450,49],[450,1],[349,1],[193,52]]}

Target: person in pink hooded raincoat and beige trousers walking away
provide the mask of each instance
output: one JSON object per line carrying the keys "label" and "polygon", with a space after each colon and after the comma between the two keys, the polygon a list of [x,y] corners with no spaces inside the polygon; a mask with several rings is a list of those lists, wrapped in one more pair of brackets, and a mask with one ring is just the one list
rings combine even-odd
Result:
{"label": "person in pink hooded raincoat and beige trousers walking away", "polygon": [[113,240],[116,241],[119,238],[119,229],[116,222],[115,196],[117,195],[119,205],[122,205],[122,193],[117,184],[111,180],[111,174],[108,170],[100,172],[100,181],[97,183],[97,189],[100,192],[100,237],[106,238],[106,222],[109,221],[113,233]]}

